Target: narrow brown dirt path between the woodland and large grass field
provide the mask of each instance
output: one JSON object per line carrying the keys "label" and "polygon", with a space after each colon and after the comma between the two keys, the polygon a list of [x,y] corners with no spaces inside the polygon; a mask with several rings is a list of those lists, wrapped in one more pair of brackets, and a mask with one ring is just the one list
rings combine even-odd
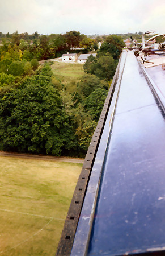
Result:
{"label": "narrow brown dirt path between the woodland and large grass field", "polygon": [[14,152],[4,152],[0,151],[0,156],[10,156],[12,158],[26,158],[26,159],[39,159],[46,161],[60,161],[68,163],[82,163],[84,162],[83,158],[66,158],[65,156],[44,156],[44,155],[31,155],[31,154],[18,154]]}

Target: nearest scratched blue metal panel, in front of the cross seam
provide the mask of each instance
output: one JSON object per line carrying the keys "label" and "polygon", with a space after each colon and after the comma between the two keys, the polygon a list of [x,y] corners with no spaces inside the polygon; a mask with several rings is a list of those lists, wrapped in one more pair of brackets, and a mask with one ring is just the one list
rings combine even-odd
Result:
{"label": "nearest scratched blue metal panel, in front of the cross seam", "polygon": [[[139,115],[142,123],[137,120]],[[163,126],[155,106],[116,116],[95,213],[91,255],[165,246]]]}

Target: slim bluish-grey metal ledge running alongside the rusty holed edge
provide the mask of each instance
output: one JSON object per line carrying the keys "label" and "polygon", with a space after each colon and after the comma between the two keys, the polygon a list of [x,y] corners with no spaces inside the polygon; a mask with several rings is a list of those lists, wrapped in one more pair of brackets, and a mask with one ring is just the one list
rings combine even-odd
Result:
{"label": "slim bluish-grey metal ledge running alongside the rusty holed edge", "polygon": [[101,170],[104,163],[105,151],[107,148],[113,112],[115,110],[115,105],[116,105],[117,95],[119,92],[120,81],[122,79],[122,72],[124,69],[125,59],[126,59],[126,53],[122,53],[115,92],[113,93],[111,106],[108,111],[103,134],[101,135],[99,148],[95,157],[94,166],[92,167],[90,181],[88,183],[88,188],[86,193],[85,204],[83,204],[81,217],[79,219],[78,228],[77,228],[78,231],[76,233],[73,249],[71,251],[71,255],[73,256],[84,255],[86,253],[88,238],[90,237],[90,232],[91,232],[91,225],[92,225],[91,221],[93,219],[93,214],[95,210],[95,201],[96,201],[99,183],[100,183]]}

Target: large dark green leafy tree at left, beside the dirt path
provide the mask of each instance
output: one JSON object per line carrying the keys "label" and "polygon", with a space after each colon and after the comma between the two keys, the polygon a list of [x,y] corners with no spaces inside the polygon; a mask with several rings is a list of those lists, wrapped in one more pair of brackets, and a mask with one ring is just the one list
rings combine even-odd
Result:
{"label": "large dark green leafy tree at left, beside the dirt path", "polygon": [[0,95],[0,148],[60,155],[70,138],[68,115],[51,77],[29,77]]}

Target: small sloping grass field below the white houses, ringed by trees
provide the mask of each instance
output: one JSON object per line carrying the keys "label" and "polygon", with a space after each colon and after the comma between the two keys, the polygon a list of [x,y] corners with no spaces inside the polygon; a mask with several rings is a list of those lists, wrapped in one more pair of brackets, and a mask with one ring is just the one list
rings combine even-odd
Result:
{"label": "small sloping grass field below the white houses, ringed by trees", "polygon": [[73,93],[76,89],[76,83],[84,75],[83,65],[78,63],[60,63],[54,62],[51,66],[53,74]]}

